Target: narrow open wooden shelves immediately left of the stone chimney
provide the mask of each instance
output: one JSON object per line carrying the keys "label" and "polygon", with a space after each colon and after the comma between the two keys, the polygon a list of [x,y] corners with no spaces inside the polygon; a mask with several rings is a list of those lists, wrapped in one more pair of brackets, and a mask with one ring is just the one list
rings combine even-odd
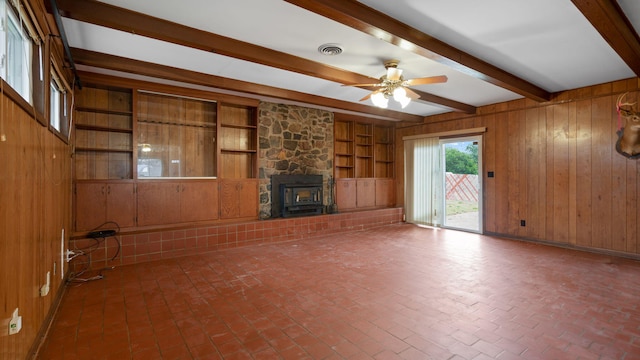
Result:
{"label": "narrow open wooden shelves immediately left of the stone chimney", "polygon": [[218,104],[218,177],[257,177],[258,118],[253,106]]}

